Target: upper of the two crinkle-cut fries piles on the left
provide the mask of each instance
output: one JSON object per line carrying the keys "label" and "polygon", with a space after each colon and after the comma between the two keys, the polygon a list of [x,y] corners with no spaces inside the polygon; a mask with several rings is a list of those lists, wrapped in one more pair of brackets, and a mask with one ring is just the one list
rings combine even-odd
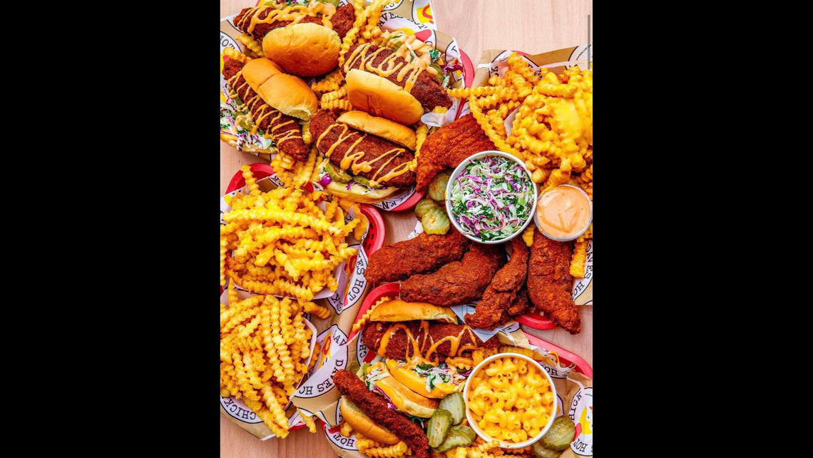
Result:
{"label": "upper of the two crinkle-cut fries piles on the left", "polygon": [[[247,194],[227,198],[232,209],[220,225],[220,286],[230,277],[237,286],[256,294],[276,294],[310,301],[325,286],[338,288],[333,272],[356,254],[345,238],[363,223],[359,216],[345,224],[338,199],[326,204],[324,192],[302,190],[315,168],[315,150],[307,163],[277,154],[272,160],[284,186],[263,193],[250,167],[241,168]],[[292,164],[293,171],[286,169]],[[227,196],[228,197],[228,196]],[[320,315],[317,313],[317,315]],[[320,318],[326,318],[324,313]]]}

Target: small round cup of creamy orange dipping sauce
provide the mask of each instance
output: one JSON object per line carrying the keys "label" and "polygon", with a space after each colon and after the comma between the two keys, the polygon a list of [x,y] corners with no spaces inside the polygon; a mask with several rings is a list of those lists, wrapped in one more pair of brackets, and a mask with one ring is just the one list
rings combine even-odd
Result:
{"label": "small round cup of creamy orange dipping sauce", "polygon": [[590,201],[570,186],[556,186],[539,198],[537,221],[553,237],[572,237],[589,224]]}

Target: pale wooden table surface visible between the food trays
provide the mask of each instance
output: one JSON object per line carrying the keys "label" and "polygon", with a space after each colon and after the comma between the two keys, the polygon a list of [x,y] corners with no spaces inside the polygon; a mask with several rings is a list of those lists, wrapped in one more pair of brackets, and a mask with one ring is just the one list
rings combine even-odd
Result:
{"label": "pale wooden table surface visible between the food trays", "polygon": [[[586,43],[590,0],[432,0],[437,29],[457,38],[460,48],[477,65],[483,50],[522,50],[538,54]],[[220,0],[220,17],[233,15],[254,0]],[[592,34],[592,30],[591,30]],[[263,162],[220,142],[220,194],[243,164]],[[413,212],[382,212],[386,243],[398,242],[415,228]],[[532,334],[570,350],[593,364],[593,306],[580,308],[581,333],[562,329],[530,329]],[[525,329],[528,330],[528,329]],[[311,458],[336,456],[324,435],[305,430],[288,438],[260,441],[220,415],[220,456]]]}

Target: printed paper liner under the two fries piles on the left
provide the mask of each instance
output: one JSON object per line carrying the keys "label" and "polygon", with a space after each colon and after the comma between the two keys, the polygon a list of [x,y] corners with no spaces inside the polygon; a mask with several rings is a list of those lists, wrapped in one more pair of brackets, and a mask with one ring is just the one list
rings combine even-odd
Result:
{"label": "printed paper liner under the two fries piles on the left", "polygon": [[[272,185],[272,183],[274,185]],[[277,178],[276,175],[271,175],[269,177],[264,177],[257,180],[257,185],[259,185],[260,190],[263,190],[263,192],[271,190],[272,188],[276,187],[275,185],[278,186],[281,184],[282,183],[279,181],[279,178]],[[234,190],[229,194],[234,195],[237,194],[237,192],[245,194],[246,191],[246,186],[243,186],[241,189]],[[229,209],[230,207],[228,207],[228,204],[225,203],[224,198],[221,197],[221,225],[225,224],[224,220],[222,220],[223,212],[228,211]],[[354,217],[355,212],[351,207],[350,212],[347,212],[345,215],[345,222],[349,222]],[[361,240],[356,240],[353,237],[353,233],[348,235],[346,239],[348,246],[355,248],[358,252],[346,263],[342,263],[337,267],[334,275],[337,276],[339,287],[337,288],[336,292],[333,293],[330,289],[325,288],[324,290],[321,290],[319,293],[315,294],[315,299],[313,302],[332,308],[333,315],[328,320],[321,320],[317,316],[311,316],[308,313],[305,314],[306,324],[309,328],[311,328],[311,331],[313,331],[313,338],[311,341],[311,358],[317,358],[317,362],[311,371],[302,377],[302,384],[307,381],[308,377],[310,377],[312,373],[315,373],[318,369],[320,369],[326,361],[331,360],[336,354],[338,348],[346,343],[347,333],[353,326],[355,316],[359,312],[359,308],[361,308],[361,304],[363,302],[362,299],[367,290],[370,289],[370,285],[368,285],[367,280],[364,279],[364,271],[367,268],[367,252],[363,247],[364,239],[367,238],[369,231],[370,226],[368,225],[367,230],[364,231]],[[237,290],[237,294],[241,297],[241,299],[256,295],[243,290],[236,285],[235,289]],[[228,305],[228,292],[225,290],[225,288],[223,294],[220,295],[220,302]],[[313,349],[316,342],[320,342],[321,349],[319,353],[314,354]],[[310,360],[308,362],[310,362]],[[268,438],[275,437],[275,435],[271,432],[271,430],[268,429],[263,421],[260,420],[250,408],[247,408],[246,404],[242,403],[241,399],[233,399],[231,397],[224,398],[223,396],[220,396],[220,412],[229,420],[237,423],[237,425],[239,425],[242,429],[248,431],[257,438],[266,440]],[[289,407],[285,410],[285,413],[288,416],[289,425],[291,426],[292,430],[294,428],[298,429],[299,427],[305,425],[304,421],[302,421],[302,417],[300,417],[299,413],[296,411],[296,408],[293,407],[293,404],[289,404]]]}

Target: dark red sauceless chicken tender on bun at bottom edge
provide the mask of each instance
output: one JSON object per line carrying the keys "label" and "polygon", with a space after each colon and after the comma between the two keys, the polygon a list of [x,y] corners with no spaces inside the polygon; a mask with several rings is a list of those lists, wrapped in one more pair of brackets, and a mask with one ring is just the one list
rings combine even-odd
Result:
{"label": "dark red sauceless chicken tender on bun at bottom edge", "polygon": [[342,395],[347,396],[376,425],[384,426],[404,441],[412,449],[415,458],[429,458],[429,439],[424,430],[407,420],[400,412],[389,408],[387,401],[367,390],[364,382],[354,373],[338,370],[333,374],[333,383]]}

